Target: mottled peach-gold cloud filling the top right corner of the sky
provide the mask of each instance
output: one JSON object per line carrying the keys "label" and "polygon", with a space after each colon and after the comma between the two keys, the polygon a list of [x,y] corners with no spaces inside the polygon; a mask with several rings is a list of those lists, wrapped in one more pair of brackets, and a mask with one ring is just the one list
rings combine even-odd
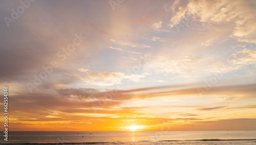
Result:
{"label": "mottled peach-gold cloud filling the top right corner of the sky", "polygon": [[[177,2],[177,1],[176,1]],[[242,42],[256,43],[256,18],[253,15],[256,3],[253,1],[189,1],[170,19],[170,28],[182,20],[191,17],[192,20],[204,23],[229,23],[233,29],[232,37]],[[173,4],[177,7],[177,3]],[[174,10],[174,9],[173,9]]]}

